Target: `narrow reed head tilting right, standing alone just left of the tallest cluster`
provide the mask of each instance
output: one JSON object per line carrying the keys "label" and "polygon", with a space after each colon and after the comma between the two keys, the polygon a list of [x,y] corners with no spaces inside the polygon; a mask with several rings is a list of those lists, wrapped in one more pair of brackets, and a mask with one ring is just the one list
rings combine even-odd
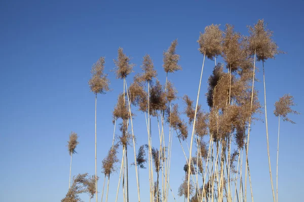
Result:
{"label": "narrow reed head tilting right, standing alone just left of the tallest cluster", "polygon": [[182,70],[182,68],[177,64],[180,59],[180,56],[175,53],[177,45],[178,42],[177,39],[175,39],[174,41],[172,41],[168,50],[163,53],[163,67],[167,74],[169,72],[174,73],[175,71]]}

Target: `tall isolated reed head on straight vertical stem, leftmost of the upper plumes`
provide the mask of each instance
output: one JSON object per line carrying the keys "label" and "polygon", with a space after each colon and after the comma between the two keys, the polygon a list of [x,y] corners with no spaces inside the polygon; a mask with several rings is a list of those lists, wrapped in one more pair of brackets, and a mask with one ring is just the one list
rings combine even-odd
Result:
{"label": "tall isolated reed head on straight vertical stem, leftmost of the upper plumes", "polygon": [[110,81],[107,78],[107,74],[104,73],[105,58],[100,57],[99,60],[92,66],[91,79],[89,80],[89,86],[92,92],[95,94],[104,94],[110,90]]}

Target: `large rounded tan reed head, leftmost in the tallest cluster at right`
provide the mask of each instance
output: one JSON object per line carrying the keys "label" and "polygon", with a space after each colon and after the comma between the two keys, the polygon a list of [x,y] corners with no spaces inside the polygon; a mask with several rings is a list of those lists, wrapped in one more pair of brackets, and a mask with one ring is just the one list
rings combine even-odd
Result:
{"label": "large rounded tan reed head, leftmost in the tallest cluster at right", "polygon": [[219,25],[209,25],[205,27],[204,33],[200,33],[198,40],[200,45],[199,51],[206,55],[208,59],[213,60],[214,57],[222,53],[222,31]]}

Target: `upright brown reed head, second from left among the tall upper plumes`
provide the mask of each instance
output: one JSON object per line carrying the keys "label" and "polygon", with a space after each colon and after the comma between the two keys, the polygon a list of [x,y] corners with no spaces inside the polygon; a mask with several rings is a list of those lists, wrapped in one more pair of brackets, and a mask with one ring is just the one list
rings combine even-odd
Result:
{"label": "upright brown reed head, second from left among the tall upper plumes", "polygon": [[133,67],[135,66],[132,64],[130,57],[124,54],[124,50],[122,47],[118,48],[118,57],[116,60],[113,60],[114,64],[116,65],[114,71],[116,73],[116,78],[124,79],[130,73],[133,72]]}

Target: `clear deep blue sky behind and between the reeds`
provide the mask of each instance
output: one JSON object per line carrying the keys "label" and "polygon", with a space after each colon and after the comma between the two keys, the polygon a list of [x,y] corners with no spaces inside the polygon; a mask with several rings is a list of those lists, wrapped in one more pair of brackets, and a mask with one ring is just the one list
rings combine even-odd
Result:
{"label": "clear deep blue sky behind and between the reeds", "polygon": [[[0,2],[0,201],[60,201],[68,189],[70,157],[68,134],[79,134],[72,175],[94,174],[94,94],[88,80],[91,66],[106,57],[105,70],[114,67],[119,46],[137,64],[150,54],[162,83],[162,53],[178,38],[177,53],[183,70],[170,74],[179,96],[196,98],[203,56],[197,39],[210,24],[230,23],[247,34],[246,25],[263,18],[274,31],[280,49],[288,52],[265,63],[270,151],[275,173],[278,120],[275,101],[285,93],[294,96],[304,113],[302,75],[303,1],[1,1]],[[220,61],[220,60],[219,60]],[[214,62],[207,60],[200,104],[207,110],[204,93]],[[261,64],[257,63],[261,70]],[[132,81],[134,74],[127,78]],[[257,73],[262,81],[262,72]],[[111,111],[123,83],[109,73],[113,91],[98,95],[97,157],[101,161],[111,145]],[[256,83],[263,104],[262,82]],[[302,86],[302,87],[301,87]],[[181,103],[179,100],[178,103]],[[135,112],[137,147],[146,143],[144,116]],[[264,115],[261,115],[264,119]],[[297,124],[282,122],[279,161],[279,200],[302,199],[303,116],[290,116]],[[155,131],[156,122],[153,123]],[[117,133],[118,134],[118,133]],[[155,137],[158,137],[157,134]],[[252,127],[249,163],[255,201],[271,201],[265,124]],[[156,139],[157,140],[157,139]],[[189,141],[189,140],[188,140]],[[155,141],[156,143],[157,141]],[[182,150],[173,139],[170,186],[177,201],[183,176]],[[131,149],[130,149],[131,150]],[[133,162],[129,153],[129,162]],[[121,158],[120,151],[119,158]],[[148,197],[146,170],[140,170],[142,201]],[[130,201],[136,201],[134,168],[130,173]],[[275,176],[275,174],[274,174]],[[102,177],[101,177],[102,178]],[[275,180],[275,178],[274,178]],[[98,183],[101,191],[103,179]],[[110,182],[109,201],[115,198],[118,174]],[[249,190],[249,189],[248,189]],[[99,198],[100,198],[99,194]],[[171,193],[169,193],[171,196]],[[88,201],[89,196],[82,195]],[[169,201],[173,201],[170,197]]]}

